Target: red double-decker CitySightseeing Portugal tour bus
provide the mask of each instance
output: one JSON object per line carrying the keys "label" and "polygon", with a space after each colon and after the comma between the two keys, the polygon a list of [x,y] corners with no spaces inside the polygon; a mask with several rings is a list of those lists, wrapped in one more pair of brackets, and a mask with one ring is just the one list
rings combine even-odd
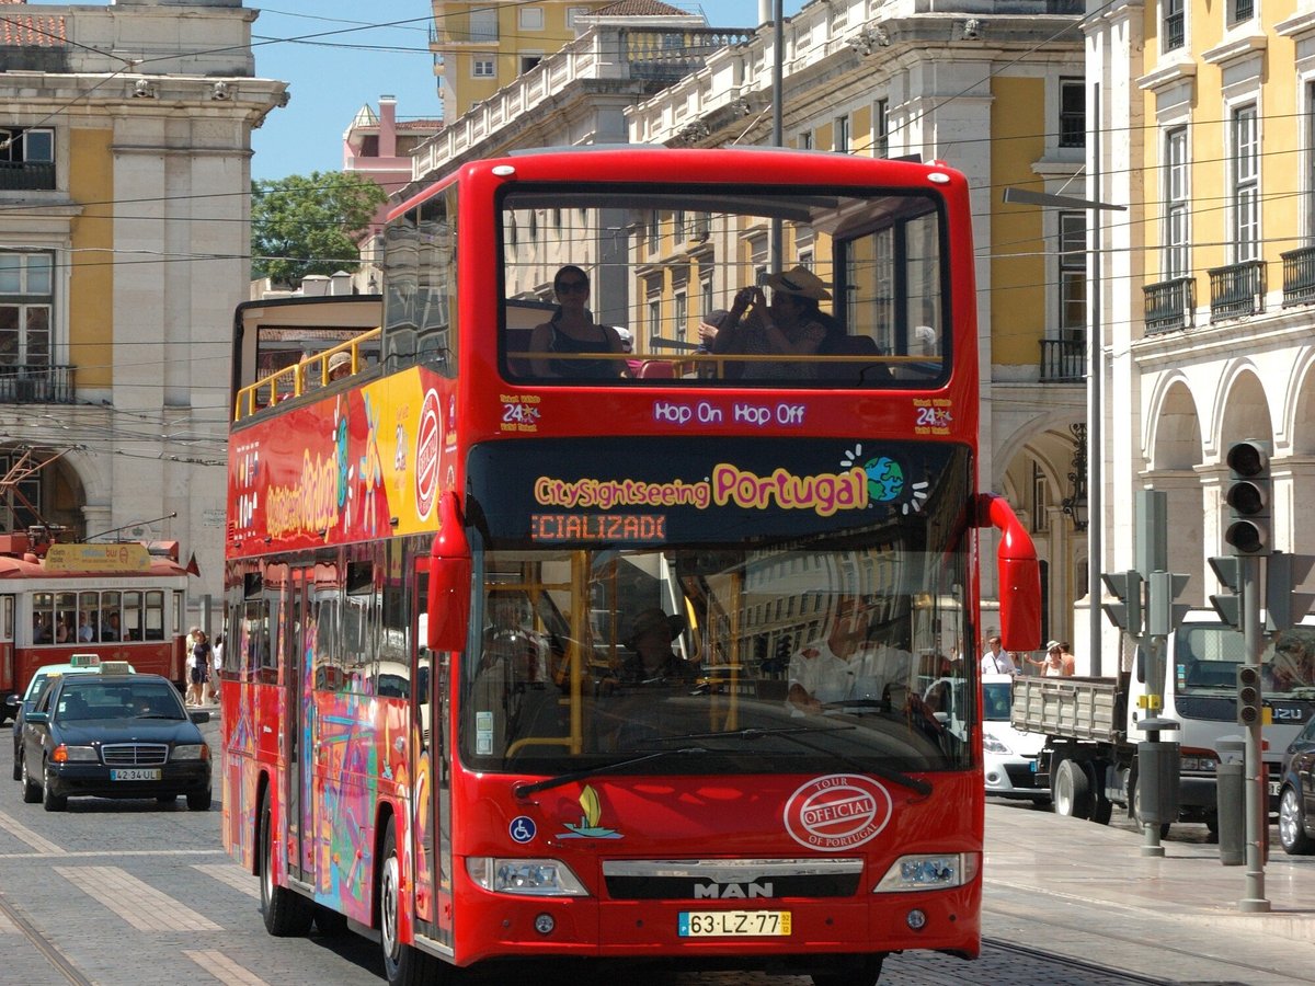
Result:
{"label": "red double-decker CitySightseeing Portugal tour bus", "polygon": [[397,208],[384,281],[377,333],[234,350],[224,839],[271,933],[393,983],[976,956],[980,527],[1006,647],[1040,599],[978,489],[964,177],[527,153]]}

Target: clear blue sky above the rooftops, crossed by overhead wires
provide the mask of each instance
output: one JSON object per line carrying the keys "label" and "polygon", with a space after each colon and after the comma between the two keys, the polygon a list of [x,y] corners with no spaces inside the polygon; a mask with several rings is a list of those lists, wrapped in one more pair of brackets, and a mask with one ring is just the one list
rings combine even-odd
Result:
{"label": "clear blue sky above the rooftops, crossed by overhead wires", "polygon": [[[672,3],[697,7],[693,0]],[[785,16],[798,13],[803,3],[785,0]],[[377,106],[380,96],[397,97],[401,120],[439,116],[429,0],[245,0],[243,5],[260,11],[251,30],[256,75],[284,80],[291,92],[288,105],[271,112],[252,134],[254,179],[339,170],[343,131],[358,109],[367,103]],[[757,0],[702,0],[701,7],[713,26],[757,22]]]}

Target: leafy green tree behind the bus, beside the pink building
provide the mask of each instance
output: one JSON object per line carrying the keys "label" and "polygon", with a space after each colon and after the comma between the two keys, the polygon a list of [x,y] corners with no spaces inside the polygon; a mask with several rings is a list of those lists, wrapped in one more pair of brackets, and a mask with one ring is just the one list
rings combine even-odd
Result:
{"label": "leafy green tree behind the bus, beside the pink building", "polygon": [[251,183],[251,273],[300,284],[360,267],[356,243],[388,195],[368,177],[312,171]]}

